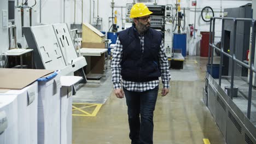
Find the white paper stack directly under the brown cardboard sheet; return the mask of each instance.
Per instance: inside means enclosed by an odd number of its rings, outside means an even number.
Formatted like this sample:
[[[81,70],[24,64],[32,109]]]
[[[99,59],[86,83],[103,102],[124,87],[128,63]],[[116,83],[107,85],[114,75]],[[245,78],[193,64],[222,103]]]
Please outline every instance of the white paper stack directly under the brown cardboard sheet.
[[[19,144],[37,143],[38,83],[34,82],[21,90],[10,90],[4,94],[18,95]]]

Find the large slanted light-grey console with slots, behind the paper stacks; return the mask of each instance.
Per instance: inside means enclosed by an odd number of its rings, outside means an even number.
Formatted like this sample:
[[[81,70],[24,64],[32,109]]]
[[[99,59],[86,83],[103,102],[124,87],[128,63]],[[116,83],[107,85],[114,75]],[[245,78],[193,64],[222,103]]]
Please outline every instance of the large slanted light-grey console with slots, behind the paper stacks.
[[[79,70],[86,82],[84,57],[78,57],[69,29],[65,23],[23,27],[28,45],[34,50],[37,69],[60,69],[62,75],[74,75]]]

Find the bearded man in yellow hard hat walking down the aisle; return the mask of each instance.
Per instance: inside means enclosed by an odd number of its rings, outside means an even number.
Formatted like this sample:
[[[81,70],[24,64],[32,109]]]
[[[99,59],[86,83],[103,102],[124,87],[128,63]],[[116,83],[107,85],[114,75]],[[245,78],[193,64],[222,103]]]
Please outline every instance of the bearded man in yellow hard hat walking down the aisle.
[[[150,28],[151,11],[143,3],[133,5],[132,27],[118,33],[112,59],[112,82],[117,98],[126,98],[131,143],[153,143],[153,113],[159,77],[169,92],[170,73],[162,34]],[[123,85],[123,87],[122,87]]]

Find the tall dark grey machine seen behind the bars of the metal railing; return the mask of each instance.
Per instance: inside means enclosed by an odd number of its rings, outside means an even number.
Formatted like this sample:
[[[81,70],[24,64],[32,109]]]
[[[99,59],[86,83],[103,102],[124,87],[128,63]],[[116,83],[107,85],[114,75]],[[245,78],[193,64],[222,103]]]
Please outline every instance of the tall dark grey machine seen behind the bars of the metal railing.
[[[252,7],[238,7],[238,8],[226,8],[224,9],[227,17],[235,17],[235,18],[251,18],[252,17]],[[241,22],[238,21],[237,25],[239,28],[237,31],[234,31],[232,27],[232,21],[226,21],[224,25],[224,52],[232,53],[234,51],[232,33],[236,33],[236,46],[240,47],[235,50],[236,58],[240,61],[246,60],[246,53],[249,49],[249,41],[250,41],[250,22]],[[223,57],[223,70],[222,75],[231,75],[231,60],[229,57]],[[234,66],[234,74],[235,76],[247,76],[248,69],[245,67],[241,67],[240,64],[235,64]]]

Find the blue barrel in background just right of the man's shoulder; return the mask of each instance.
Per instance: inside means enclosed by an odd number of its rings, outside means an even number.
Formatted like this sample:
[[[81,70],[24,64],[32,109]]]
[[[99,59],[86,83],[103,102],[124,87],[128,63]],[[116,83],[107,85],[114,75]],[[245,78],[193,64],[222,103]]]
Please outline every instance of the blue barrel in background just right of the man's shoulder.
[[[181,50],[182,56],[187,56],[187,34],[174,33],[173,34],[173,50]]]

